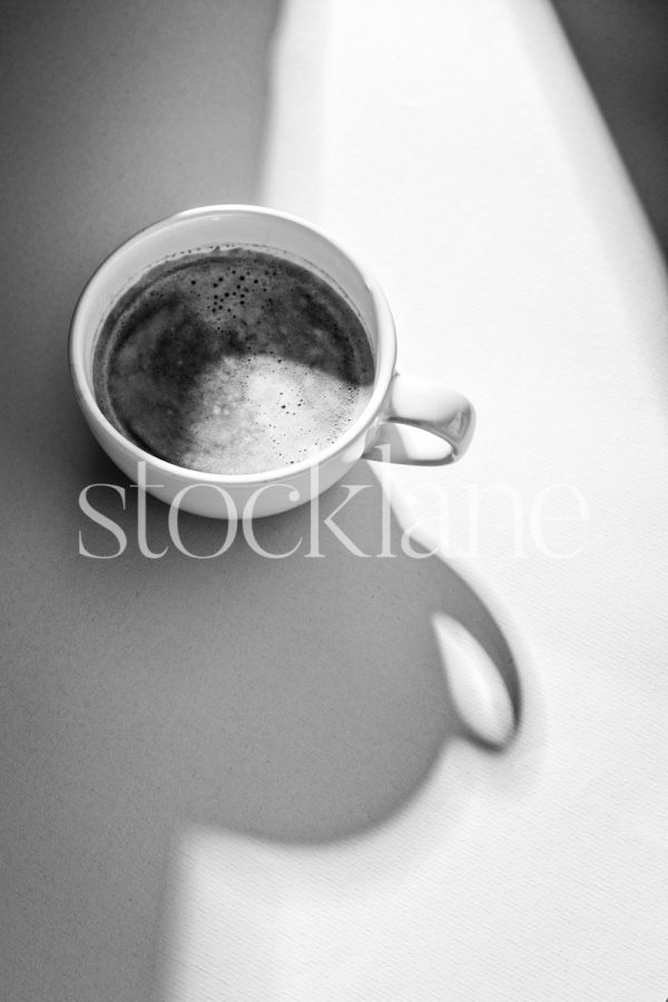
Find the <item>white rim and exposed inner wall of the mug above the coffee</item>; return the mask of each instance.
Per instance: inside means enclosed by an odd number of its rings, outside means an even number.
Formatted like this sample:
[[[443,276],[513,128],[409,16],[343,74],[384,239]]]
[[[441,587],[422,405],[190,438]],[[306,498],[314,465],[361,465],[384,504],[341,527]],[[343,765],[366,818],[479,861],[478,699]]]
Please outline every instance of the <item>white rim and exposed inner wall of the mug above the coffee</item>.
[[[264,474],[202,474],[175,466],[144,452],[121,435],[102,414],[94,392],[94,358],[105,318],[119,297],[155,265],[215,247],[249,246],[303,264],[324,278],[352,306],[369,337],[374,358],[374,386],[366,406],[344,434],[315,456],[289,466],[291,474],[311,466],[369,428],[383,405],[394,374],[394,325],[387,303],[375,281],[338,244],[311,224],[294,216],[248,206],[213,206],[190,209],[149,226],[122,244],[91,277],[77,305],[70,335],[70,363],[80,401],[94,422],[122,440],[138,459],[178,469],[194,479],[264,479]],[[272,478],[285,470],[266,471]]]

